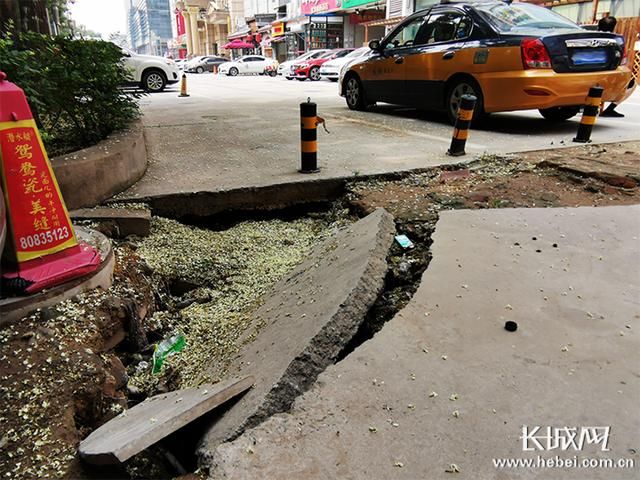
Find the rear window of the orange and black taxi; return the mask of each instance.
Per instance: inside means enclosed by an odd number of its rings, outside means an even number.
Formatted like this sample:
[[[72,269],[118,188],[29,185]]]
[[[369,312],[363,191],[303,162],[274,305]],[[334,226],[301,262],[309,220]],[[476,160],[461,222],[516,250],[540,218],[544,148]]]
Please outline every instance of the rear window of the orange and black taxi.
[[[520,33],[522,30],[539,29],[580,30],[572,21],[535,5],[491,3],[480,4],[476,8],[500,33]]]

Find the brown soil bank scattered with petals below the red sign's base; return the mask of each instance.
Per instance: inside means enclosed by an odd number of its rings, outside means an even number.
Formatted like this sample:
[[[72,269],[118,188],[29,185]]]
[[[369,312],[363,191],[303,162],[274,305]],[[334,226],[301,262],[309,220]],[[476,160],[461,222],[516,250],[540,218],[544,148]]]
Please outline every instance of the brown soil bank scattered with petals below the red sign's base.
[[[115,250],[115,286],[41,310],[0,331],[3,478],[77,478],[78,442],[127,408],[115,349],[155,308],[140,258]]]

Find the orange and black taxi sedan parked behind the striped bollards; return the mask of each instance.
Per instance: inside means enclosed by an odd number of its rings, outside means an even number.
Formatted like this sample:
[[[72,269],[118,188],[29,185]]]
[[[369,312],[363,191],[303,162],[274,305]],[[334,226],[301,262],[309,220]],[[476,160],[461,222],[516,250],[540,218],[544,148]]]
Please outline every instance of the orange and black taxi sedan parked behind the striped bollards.
[[[461,96],[472,94],[476,116],[538,109],[561,121],[594,85],[615,103],[635,88],[622,36],[583,30],[528,3],[438,4],[369,46],[374,52],[340,77],[351,109],[382,101],[444,110],[453,122]]]

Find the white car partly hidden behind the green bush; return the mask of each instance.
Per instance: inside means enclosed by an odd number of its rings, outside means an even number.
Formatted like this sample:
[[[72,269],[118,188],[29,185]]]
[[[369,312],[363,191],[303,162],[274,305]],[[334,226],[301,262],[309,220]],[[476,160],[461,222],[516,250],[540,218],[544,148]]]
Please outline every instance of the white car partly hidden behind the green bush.
[[[131,83],[148,92],[161,92],[167,85],[177,83],[179,72],[173,60],[152,55],[139,55],[120,47],[125,67],[132,76]]]

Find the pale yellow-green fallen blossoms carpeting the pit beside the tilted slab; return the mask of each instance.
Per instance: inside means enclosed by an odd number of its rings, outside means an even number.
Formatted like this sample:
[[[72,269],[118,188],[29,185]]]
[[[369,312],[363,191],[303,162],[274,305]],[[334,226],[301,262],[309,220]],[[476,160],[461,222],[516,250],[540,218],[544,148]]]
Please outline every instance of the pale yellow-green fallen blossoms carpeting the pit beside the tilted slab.
[[[151,392],[163,381],[172,388],[218,381],[241,346],[260,297],[335,226],[306,218],[244,222],[215,232],[155,218],[137,253],[156,273],[202,287],[183,296],[196,302],[152,319],[166,336],[184,334],[185,349],[167,359],[159,376],[139,369],[129,385]]]

